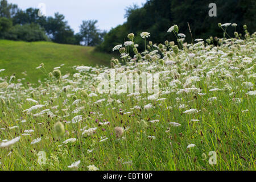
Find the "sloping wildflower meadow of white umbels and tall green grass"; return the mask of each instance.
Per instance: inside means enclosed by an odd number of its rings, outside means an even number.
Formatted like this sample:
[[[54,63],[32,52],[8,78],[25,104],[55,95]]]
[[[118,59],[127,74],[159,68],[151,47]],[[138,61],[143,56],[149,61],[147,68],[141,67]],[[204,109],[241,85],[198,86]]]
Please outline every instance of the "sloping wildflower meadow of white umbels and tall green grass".
[[[148,42],[150,33],[142,32],[141,53],[129,34],[130,41],[113,48],[119,59],[98,55],[111,68],[81,65],[77,55],[64,62],[63,50],[63,57],[46,62],[43,56],[52,55],[39,55],[37,48],[31,53],[42,64],[28,65],[29,55],[18,54],[8,67],[1,61],[0,169],[255,170],[256,32],[244,26],[245,36],[234,32],[231,38],[225,30],[236,24],[219,26],[224,38],[195,44],[186,43],[176,25],[168,30],[176,45]],[[33,78],[21,75],[20,65],[46,80],[23,84],[23,77]],[[63,71],[68,65],[69,73]],[[99,93],[102,76],[113,70],[159,73],[159,97]]]

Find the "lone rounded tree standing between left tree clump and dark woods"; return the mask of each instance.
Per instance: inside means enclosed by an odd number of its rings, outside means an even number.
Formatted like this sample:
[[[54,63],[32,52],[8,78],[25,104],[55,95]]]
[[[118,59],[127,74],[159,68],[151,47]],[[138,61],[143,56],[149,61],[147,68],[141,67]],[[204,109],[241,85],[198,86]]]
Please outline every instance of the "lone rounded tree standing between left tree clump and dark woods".
[[[80,26],[80,38],[84,46],[96,46],[103,41],[106,31],[96,27],[97,20],[84,20]]]

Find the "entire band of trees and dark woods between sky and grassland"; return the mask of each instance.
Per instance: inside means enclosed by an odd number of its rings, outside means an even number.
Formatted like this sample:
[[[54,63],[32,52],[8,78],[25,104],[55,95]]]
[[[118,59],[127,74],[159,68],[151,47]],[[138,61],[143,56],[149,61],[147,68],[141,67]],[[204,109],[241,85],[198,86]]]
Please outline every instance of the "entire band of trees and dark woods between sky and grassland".
[[[217,16],[210,17],[209,3],[216,3]],[[0,1],[0,39],[23,40],[26,42],[52,41],[60,44],[76,44],[97,46],[98,51],[112,52],[112,48],[127,40],[127,34],[133,32],[135,42],[143,48],[142,31],[151,33],[149,40],[163,43],[175,40],[167,30],[173,24],[179,26],[180,32],[187,35],[186,41],[191,42],[189,26],[193,39],[207,39],[209,36],[221,37],[223,31],[218,23],[237,23],[237,31],[247,25],[249,32],[255,28],[255,1],[251,0],[148,0],[142,7],[127,7],[127,21],[109,32],[98,30],[97,20],[84,20],[80,32],[75,34],[65,21],[65,16],[56,13],[54,17],[39,17],[38,9],[20,10],[18,6]],[[234,30],[229,28],[228,33]]]

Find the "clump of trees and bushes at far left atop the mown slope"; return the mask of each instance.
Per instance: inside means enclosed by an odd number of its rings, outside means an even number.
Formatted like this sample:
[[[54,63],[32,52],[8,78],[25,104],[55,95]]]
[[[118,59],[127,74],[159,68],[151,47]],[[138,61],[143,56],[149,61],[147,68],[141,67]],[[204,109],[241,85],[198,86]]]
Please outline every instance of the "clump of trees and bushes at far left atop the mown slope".
[[[65,21],[64,15],[56,13],[54,17],[40,17],[38,9],[19,10],[18,6],[9,4],[6,0],[1,0],[0,5],[0,18],[6,17],[8,22],[14,25],[14,27],[4,28],[3,25],[7,26],[7,20],[0,21],[3,27],[0,32],[1,39],[27,42],[52,40],[61,44],[80,44],[80,36],[74,34],[68,22]]]

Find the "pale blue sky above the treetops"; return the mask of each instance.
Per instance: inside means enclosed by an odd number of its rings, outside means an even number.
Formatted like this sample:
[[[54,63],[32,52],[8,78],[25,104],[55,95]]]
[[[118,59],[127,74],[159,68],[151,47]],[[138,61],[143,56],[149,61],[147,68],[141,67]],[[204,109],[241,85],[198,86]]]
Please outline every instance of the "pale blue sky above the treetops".
[[[140,7],[147,0],[7,0],[22,10],[29,7],[38,8],[40,3],[46,5],[46,16],[59,12],[65,16],[69,26],[77,33],[82,20],[96,19],[100,30],[109,31],[126,21],[127,6],[137,4]]]

